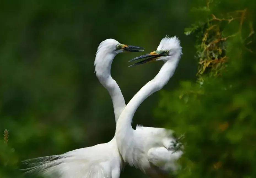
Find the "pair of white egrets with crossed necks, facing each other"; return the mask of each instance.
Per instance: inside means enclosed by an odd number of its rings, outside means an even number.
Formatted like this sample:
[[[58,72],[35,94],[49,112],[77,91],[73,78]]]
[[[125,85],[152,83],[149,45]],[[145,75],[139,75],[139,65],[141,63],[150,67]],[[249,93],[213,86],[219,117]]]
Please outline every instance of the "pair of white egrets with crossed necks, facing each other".
[[[163,61],[159,73],[143,86],[125,106],[122,92],[111,77],[111,64],[118,53],[124,51],[139,52],[143,48],[123,45],[114,39],[100,43],[95,57],[95,73],[100,83],[109,92],[115,113],[116,131],[108,143],[81,148],[62,155],[36,158],[28,172],[40,172],[47,176],[62,178],[118,178],[128,163],[141,169],[150,177],[166,177],[177,166],[175,161],[182,151],[174,151],[175,139],[172,131],[165,128],[137,126],[134,130],[131,122],[136,109],[152,93],[160,90],[173,76],[182,54],[179,39],[166,36],[156,51],[136,57],[131,61],[149,57],[133,65],[150,61]],[[32,159],[32,161],[35,161]]]

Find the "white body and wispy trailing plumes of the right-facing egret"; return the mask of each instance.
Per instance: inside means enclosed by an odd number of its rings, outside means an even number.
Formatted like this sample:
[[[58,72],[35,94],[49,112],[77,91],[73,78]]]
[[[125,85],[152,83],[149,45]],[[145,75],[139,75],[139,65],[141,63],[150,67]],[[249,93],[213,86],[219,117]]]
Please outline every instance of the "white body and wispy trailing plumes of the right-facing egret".
[[[32,166],[26,173],[42,174],[47,177],[61,178],[111,178],[109,157],[115,157],[111,142],[73,150],[62,155],[53,155],[26,160]],[[105,149],[103,149],[105,148]]]

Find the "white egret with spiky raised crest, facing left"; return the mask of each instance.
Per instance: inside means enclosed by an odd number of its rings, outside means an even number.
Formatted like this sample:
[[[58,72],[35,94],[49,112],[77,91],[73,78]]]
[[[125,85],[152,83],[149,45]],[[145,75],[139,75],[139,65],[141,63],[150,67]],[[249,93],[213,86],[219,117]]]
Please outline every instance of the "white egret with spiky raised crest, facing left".
[[[139,105],[152,93],[162,89],[173,76],[181,54],[182,47],[179,39],[176,36],[166,36],[161,40],[157,51],[131,60],[150,57],[134,65],[150,61],[164,61],[155,78],[145,84],[126,105],[117,121],[115,132],[123,160],[151,177],[165,177],[169,170],[176,169],[175,160],[180,158],[182,151],[173,150],[173,143],[176,140],[171,130],[143,126],[137,126],[134,130],[131,123]]]

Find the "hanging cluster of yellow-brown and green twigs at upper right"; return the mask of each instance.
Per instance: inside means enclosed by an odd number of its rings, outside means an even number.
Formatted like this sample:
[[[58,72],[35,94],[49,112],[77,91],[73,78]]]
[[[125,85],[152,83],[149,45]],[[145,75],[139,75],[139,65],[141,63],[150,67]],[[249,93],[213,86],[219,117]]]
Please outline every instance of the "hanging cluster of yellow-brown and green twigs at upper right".
[[[209,4],[205,9],[210,11]],[[194,9],[194,11],[202,11],[202,9]],[[207,76],[218,76],[221,71],[225,68],[228,56],[226,55],[226,41],[229,38],[239,36],[242,43],[245,43],[254,34],[252,23],[250,22],[250,32],[247,36],[242,36],[242,29],[244,27],[244,20],[247,9],[236,10],[234,12],[228,12],[223,18],[217,18],[214,14],[207,19],[206,22],[198,21],[191,25],[190,28],[185,28],[185,34],[196,35],[196,55],[195,59],[198,61],[198,80],[203,81],[203,75]],[[223,15],[222,15],[223,16]],[[233,24],[232,24],[233,23]],[[234,25],[238,24],[239,25]],[[232,31],[225,31],[229,28],[228,26],[234,27]],[[244,45],[252,43],[251,39]],[[248,51],[253,51],[247,48]]]

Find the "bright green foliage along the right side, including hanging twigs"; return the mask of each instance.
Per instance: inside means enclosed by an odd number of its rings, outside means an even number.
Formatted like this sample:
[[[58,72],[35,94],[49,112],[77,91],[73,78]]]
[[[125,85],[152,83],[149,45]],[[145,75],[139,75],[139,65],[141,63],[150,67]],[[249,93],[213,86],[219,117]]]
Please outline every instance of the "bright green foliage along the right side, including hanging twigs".
[[[193,12],[204,23],[185,29],[198,80],[162,91],[155,116],[185,135],[177,177],[256,177],[255,2],[208,5]]]

